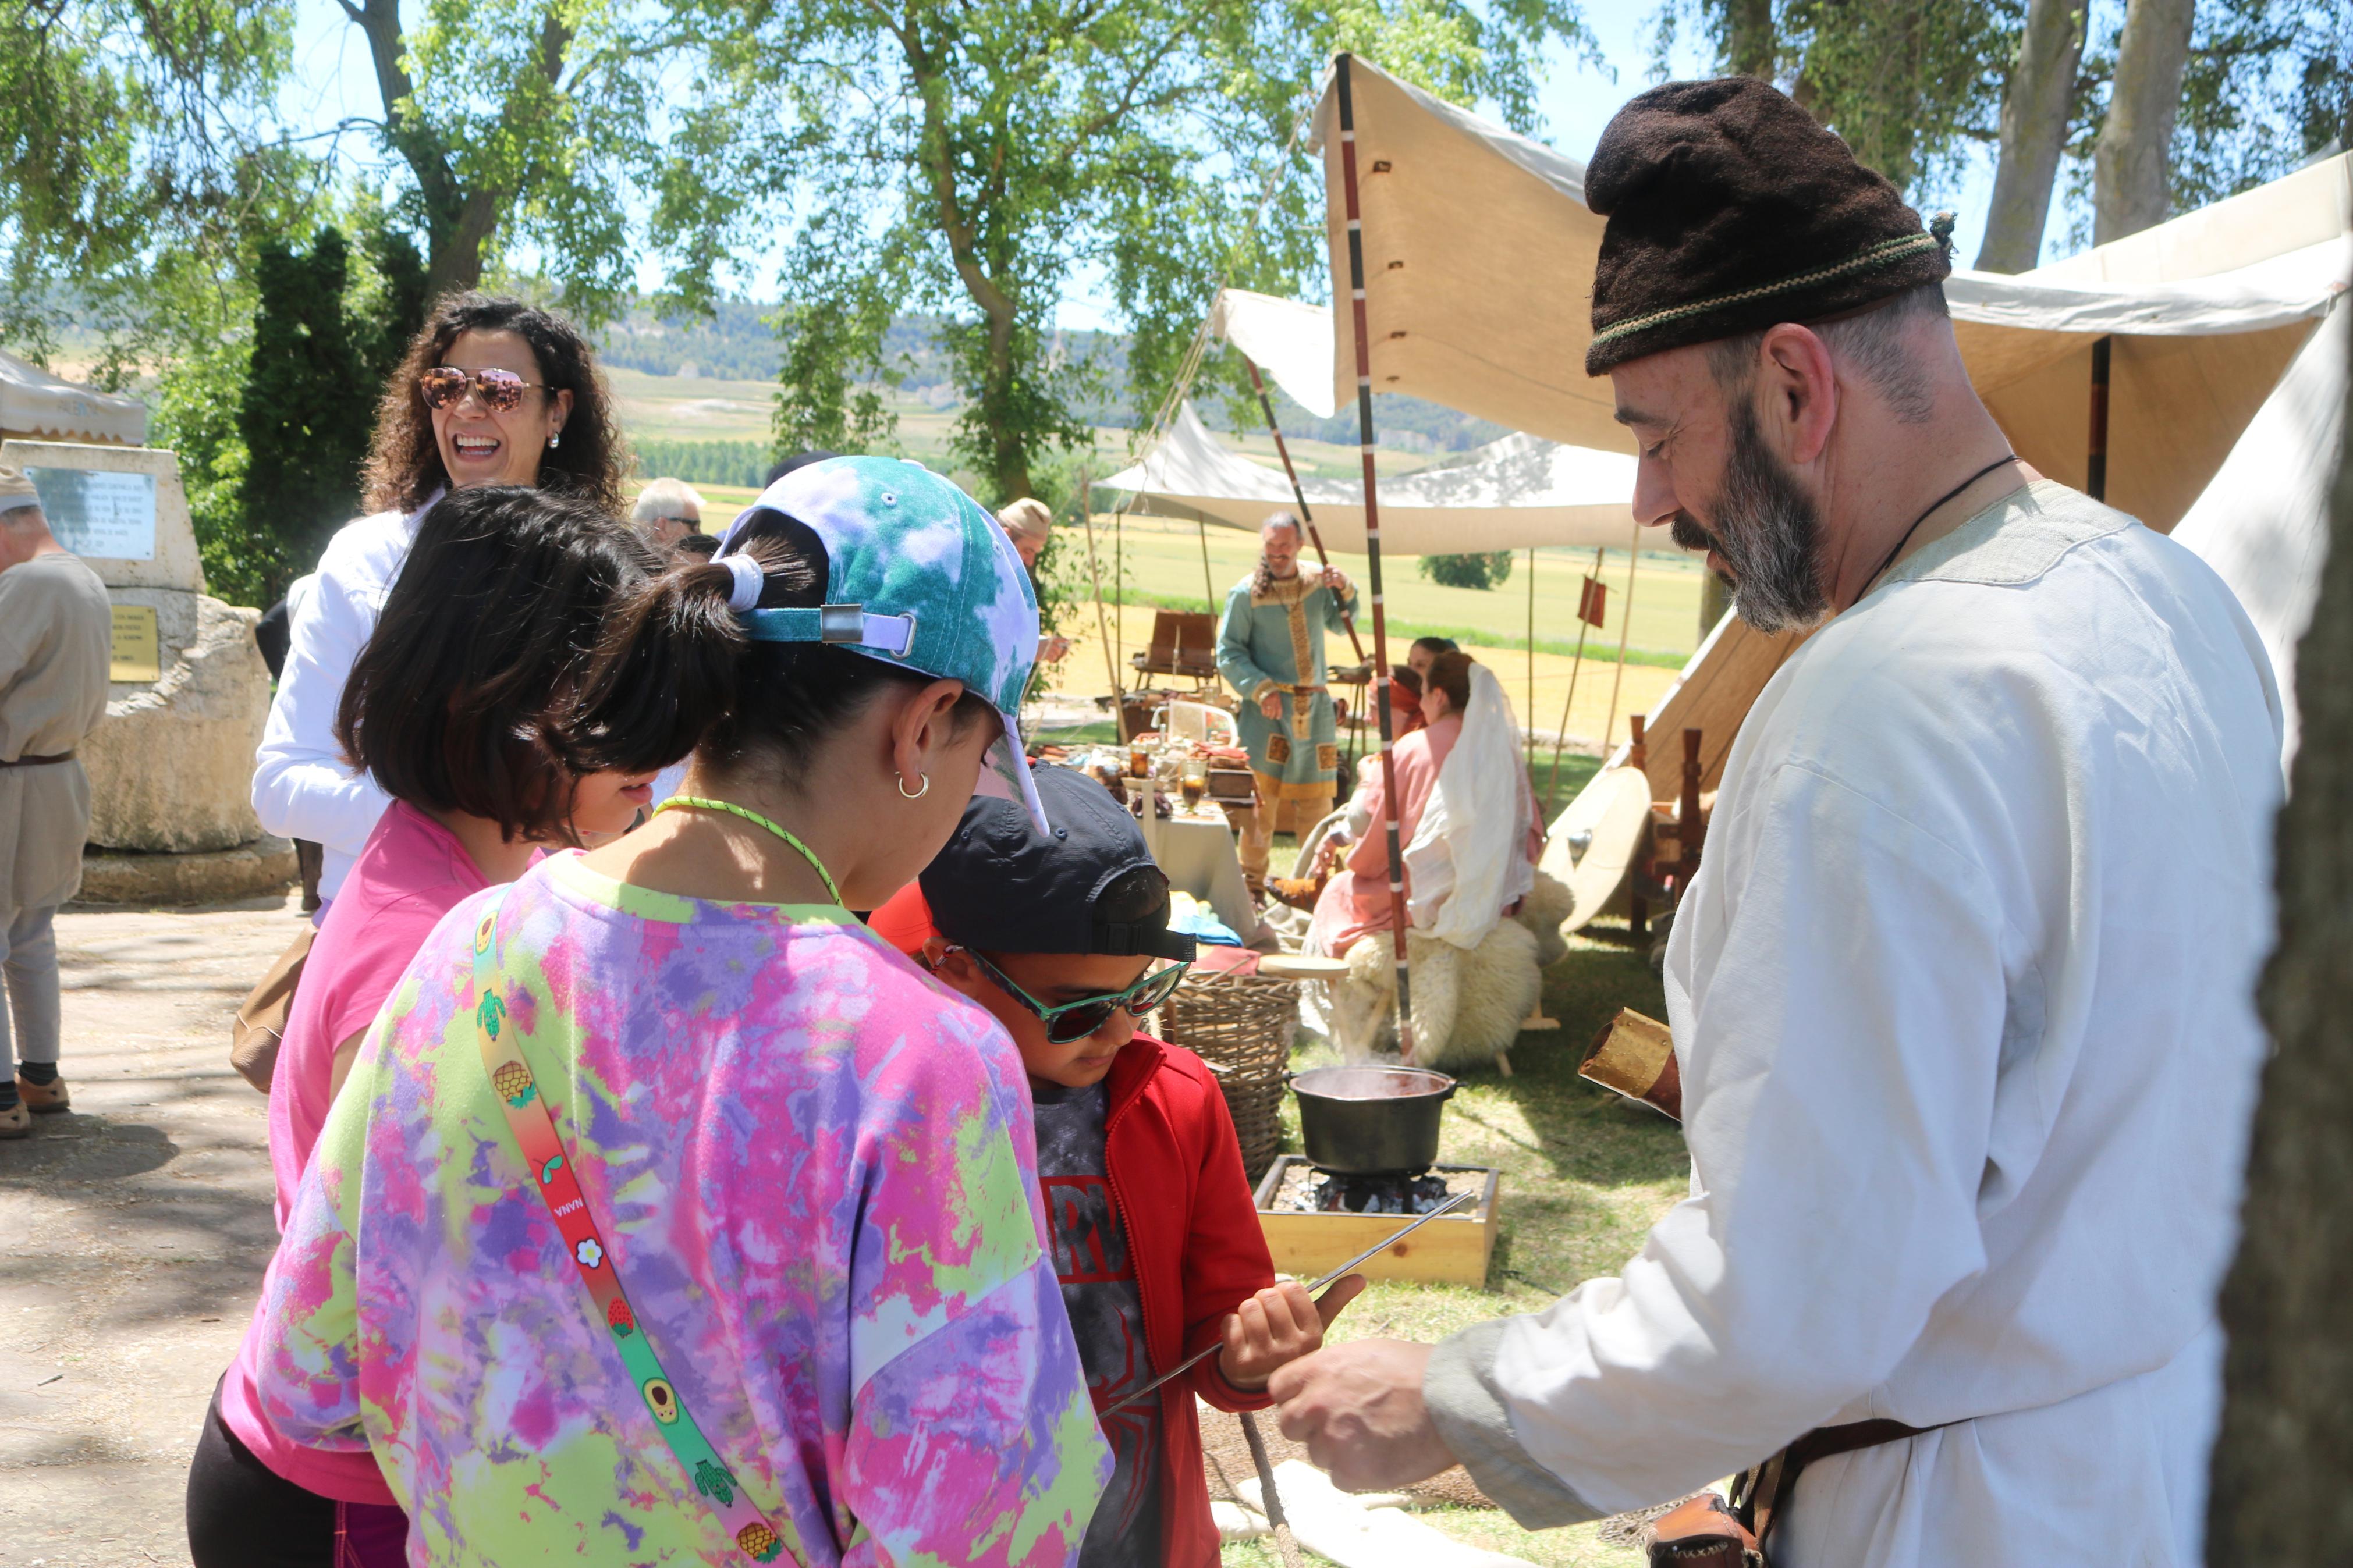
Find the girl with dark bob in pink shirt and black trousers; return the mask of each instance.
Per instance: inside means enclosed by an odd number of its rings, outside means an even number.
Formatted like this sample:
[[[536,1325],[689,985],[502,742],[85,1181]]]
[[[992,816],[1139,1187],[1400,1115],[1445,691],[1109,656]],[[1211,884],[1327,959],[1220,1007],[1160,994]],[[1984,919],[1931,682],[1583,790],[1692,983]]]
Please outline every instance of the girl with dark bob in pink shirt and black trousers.
[[[539,724],[654,571],[628,527],[548,491],[459,489],[424,517],[336,712],[336,741],[393,806],[327,910],[271,1077],[280,1227],[360,1039],[440,917],[541,844],[612,839],[647,806],[652,773],[574,776]],[[402,1561],[407,1521],[376,1460],[280,1436],[254,1345],[247,1331],[188,1469],[198,1568]]]

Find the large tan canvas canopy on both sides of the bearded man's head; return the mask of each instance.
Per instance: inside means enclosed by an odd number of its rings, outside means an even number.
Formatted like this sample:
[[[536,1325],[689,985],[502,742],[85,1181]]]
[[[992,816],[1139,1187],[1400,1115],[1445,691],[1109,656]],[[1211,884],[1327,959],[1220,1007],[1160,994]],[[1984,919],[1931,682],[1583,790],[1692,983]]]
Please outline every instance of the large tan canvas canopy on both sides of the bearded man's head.
[[[1584,165],[1362,59],[1353,94],[1372,388],[1631,451],[1609,381],[1584,371],[1602,237]],[[1315,139],[1332,275],[1346,277],[1337,115],[1327,87]],[[2209,219],[2195,235],[2134,235],[2118,256],[1958,273],[1946,294],[1962,355],[2019,456],[2082,484],[2092,341],[2115,336],[2108,501],[2172,529],[2344,282],[2311,247],[2346,230],[2348,169],[2353,158],[2327,160],[2193,214]],[[1353,395],[1353,343],[1334,343],[1329,381],[1327,402]]]

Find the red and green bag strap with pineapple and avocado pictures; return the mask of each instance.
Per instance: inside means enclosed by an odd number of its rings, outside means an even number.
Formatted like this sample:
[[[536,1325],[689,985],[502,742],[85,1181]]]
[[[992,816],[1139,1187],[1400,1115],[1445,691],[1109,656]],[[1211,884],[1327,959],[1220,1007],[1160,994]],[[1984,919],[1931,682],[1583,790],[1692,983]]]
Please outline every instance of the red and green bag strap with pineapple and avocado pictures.
[[[520,1034],[506,1039],[506,1044],[499,1041],[506,1032],[506,1001],[494,985],[496,954],[492,947],[496,940],[499,905],[504,903],[506,891],[501,889],[482,912],[482,922],[473,929],[473,1032],[482,1046],[482,1067],[489,1072],[492,1091],[506,1110],[506,1126],[515,1133],[522,1161],[536,1178],[532,1190],[539,1192],[539,1199],[548,1206],[548,1218],[562,1232],[565,1251],[572,1253],[581,1286],[588,1291],[588,1302],[595,1307],[598,1321],[612,1331],[612,1345],[621,1354],[628,1380],[645,1399],[645,1410],[654,1418],[654,1429],[661,1432],[671,1453],[678,1455],[678,1465],[694,1481],[694,1490],[720,1516],[727,1537],[755,1563],[774,1563],[784,1554],[798,1568],[800,1542],[795,1540],[788,1547],[784,1533],[751,1505],[744,1486],[720,1462],[711,1439],[704,1436],[704,1429],[678,1396],[678,1387],[661,1371],[654,1347],[645,1342],[638,1314],[631,1312],[628,1295],[621,1293],[621,1281],[612,1269],[612,1248],[598,1234],[595,1215],[588,1211],[588,1199],[581,1194],[572,1161],[565,1157],[562,1138],[555,1133],[555,1112],[548,1110],[548,1100],[539,1093],[539,1081],[532,1077],[529,1063],[522,1060]]]

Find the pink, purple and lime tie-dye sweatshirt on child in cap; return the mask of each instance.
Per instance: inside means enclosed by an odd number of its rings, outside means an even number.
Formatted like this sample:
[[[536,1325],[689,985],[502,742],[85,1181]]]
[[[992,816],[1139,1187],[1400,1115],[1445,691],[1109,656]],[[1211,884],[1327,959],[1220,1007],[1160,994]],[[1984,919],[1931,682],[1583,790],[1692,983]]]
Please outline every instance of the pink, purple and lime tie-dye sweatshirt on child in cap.
[[[372,1446],[412,1563],[736,1563],[525,1182],[468,898],[367,1037],[266,1284],[259,1392]],[[1028,1095],[981,1009],[828,907],[555,856],[499,914],[522,1032],[671,1382],[812,1568],[1066,1563],[1111,1469]]]

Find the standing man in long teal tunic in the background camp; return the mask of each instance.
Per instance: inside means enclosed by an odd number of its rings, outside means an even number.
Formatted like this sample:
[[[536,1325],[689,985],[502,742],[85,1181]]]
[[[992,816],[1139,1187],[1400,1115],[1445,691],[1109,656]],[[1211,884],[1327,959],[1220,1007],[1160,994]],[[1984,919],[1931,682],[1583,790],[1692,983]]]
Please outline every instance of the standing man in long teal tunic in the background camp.
[[[1266,839],[1292,802],[1304,832],[1332,811],[1339,780],[1339,726],[1325,689],[1325,630],[1348,625],[1355,588],[1339,569],[1299,571],[1299,520],[1275,512],[1259,527],[1259,569],[1226,595],[1217,625],[1217,672],[1242,698],[1257,811],[1242,832],[1242,872],[1266,877]]]

